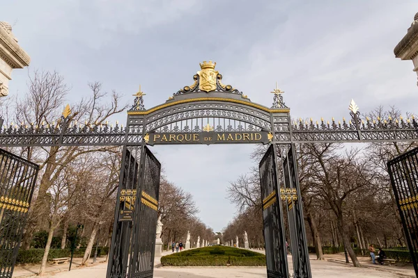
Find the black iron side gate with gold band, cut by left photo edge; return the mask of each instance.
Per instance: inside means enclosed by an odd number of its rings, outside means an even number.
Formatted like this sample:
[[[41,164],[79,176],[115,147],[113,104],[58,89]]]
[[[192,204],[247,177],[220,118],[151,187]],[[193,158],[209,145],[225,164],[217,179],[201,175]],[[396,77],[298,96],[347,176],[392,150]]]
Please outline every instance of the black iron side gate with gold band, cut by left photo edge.
[[[13,275],[38,170],[38,165],[0,149],[1,278]]]

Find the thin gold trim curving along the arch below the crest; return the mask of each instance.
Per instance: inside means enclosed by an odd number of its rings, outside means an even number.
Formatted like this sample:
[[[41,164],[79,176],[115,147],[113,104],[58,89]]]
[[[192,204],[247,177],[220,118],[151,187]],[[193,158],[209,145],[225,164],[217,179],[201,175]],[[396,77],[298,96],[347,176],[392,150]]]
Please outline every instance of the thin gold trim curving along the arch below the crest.
[[[187,104],[188,102],[193,102],[193,101],[226,101],[226,102],[233,102],[235,104],[245,104],[247,106],[251,106],[254,108],[258,108],[261,109],[263,111],[266,111],[268,113],[286,113],[291,111],[290,109],[270,109],[258,104],[253,104],[252,102],[247,102],[247,101],[242,101],[242,100],[238,100],[238,99],[226,99],[224,97],[199,97],[196,99],[183,99],[183,100],[178,100],[178,101],[173,101],[169,104],[162,104],[160,106],[156,106],[154,108],[151,108],[149,110],[146,111],[127,111],[127,115],[148,115],[150,113],[153,113],[155,111],[158,111],[162,108],[166,108],[169,106],[174,106],[176,104]]]

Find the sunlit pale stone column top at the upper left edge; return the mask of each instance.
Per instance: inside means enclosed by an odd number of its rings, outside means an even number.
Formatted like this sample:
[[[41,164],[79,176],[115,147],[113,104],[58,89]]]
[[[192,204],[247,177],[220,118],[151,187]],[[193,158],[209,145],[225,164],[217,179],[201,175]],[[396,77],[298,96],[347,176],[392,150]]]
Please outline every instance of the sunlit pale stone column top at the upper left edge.
[[[12,80],[12,70],[27,67],[31,58],[17,44],[12,26],[0,22],[0,97],[8,95],[8,82]]]

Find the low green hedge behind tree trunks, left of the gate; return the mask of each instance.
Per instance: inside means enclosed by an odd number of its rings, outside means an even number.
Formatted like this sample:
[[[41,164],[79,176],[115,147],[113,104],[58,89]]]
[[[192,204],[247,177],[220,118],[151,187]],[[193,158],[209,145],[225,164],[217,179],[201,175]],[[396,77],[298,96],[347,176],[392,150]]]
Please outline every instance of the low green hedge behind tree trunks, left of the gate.
[[[74,250],[74,257],[80,258],[84,256],[86,248]],[[45,250],[41,248],[33,248],[29,250],[19,250],[17,254],[16,263],[40,263]],[[91,256],[94,256],[95,246],[91,251]],[[98,256],[105,256],[109,252],[109,247],[98,247]],[[0,254],[1,256],[1,254]],[[71,250],[68,249],[50,249],[48,254],[48,261],[57,258],[65,258],[71,256]]]

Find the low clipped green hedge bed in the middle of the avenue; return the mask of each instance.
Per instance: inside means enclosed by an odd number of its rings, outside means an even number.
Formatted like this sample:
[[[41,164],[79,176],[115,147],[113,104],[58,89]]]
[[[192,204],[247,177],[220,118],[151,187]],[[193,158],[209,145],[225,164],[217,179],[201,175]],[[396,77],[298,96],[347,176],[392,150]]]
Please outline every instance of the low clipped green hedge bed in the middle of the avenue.
[[[163,266],[265,265],[265,255],[249,250],[211,246],[162,256]]]

